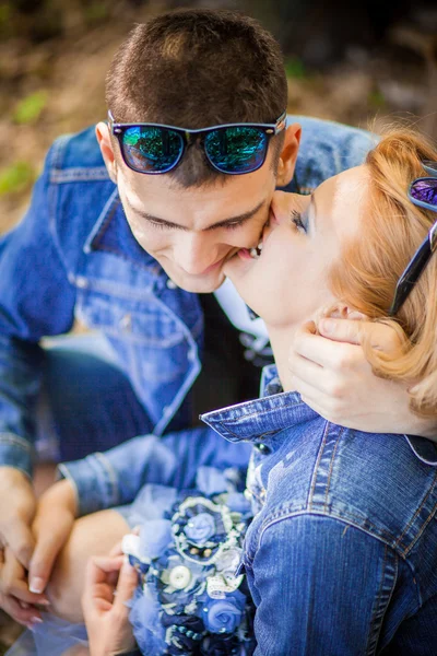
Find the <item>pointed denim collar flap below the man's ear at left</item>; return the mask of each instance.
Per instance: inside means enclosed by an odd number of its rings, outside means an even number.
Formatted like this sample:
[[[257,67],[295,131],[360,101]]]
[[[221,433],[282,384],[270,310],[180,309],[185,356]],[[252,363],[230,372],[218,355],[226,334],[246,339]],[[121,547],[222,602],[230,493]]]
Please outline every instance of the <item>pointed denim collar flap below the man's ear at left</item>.
[[[109,196],[84,246],[85,253],[104,250],[130,260],[158,276],[163,269],[137,242],[126,219],[117,187]]]

